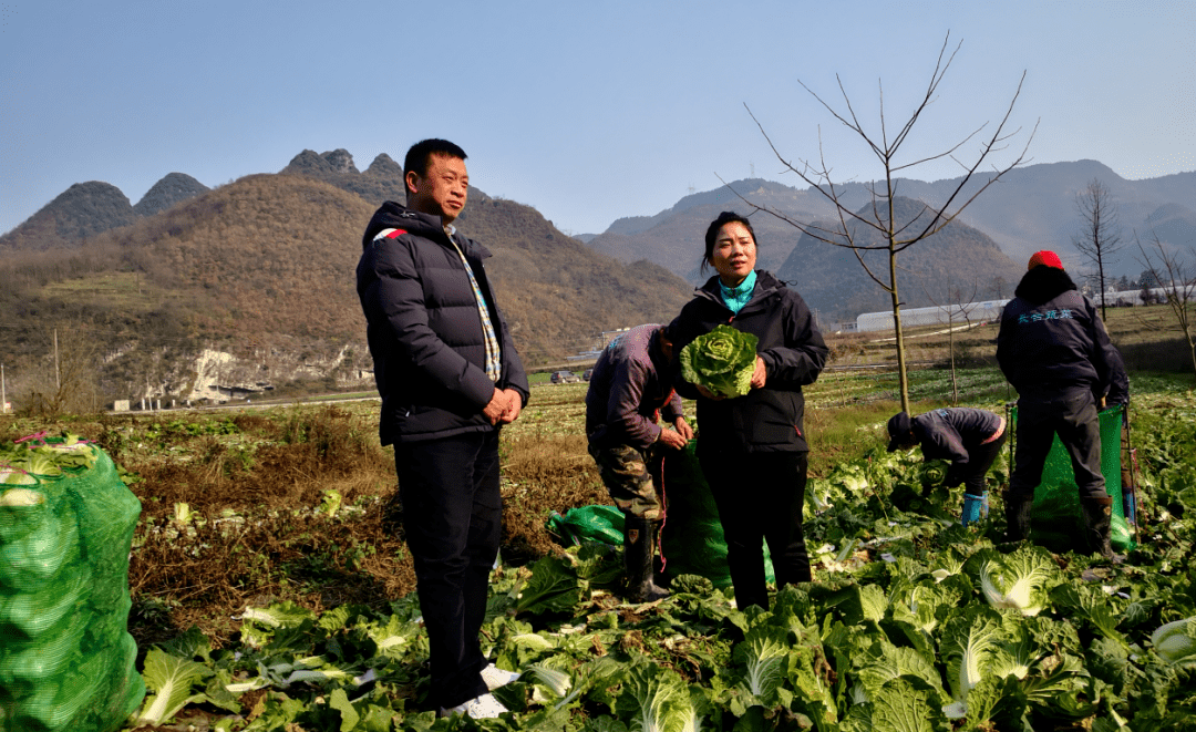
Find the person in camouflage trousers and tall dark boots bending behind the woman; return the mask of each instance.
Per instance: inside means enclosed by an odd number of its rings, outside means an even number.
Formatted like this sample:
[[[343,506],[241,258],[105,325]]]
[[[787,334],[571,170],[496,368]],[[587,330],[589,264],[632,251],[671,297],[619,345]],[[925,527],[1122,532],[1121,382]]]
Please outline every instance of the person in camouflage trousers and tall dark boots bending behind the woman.
[[[610,498],[623,512],[629,599],[669,596],[653,581],[653,545],[664,519],[660,465],[665,451],[694,437],[672,390],[672,341],[663,325],[639,325],[598,356],[586,392],[586,437]],[[657,423],[663,414],[676,429]]]

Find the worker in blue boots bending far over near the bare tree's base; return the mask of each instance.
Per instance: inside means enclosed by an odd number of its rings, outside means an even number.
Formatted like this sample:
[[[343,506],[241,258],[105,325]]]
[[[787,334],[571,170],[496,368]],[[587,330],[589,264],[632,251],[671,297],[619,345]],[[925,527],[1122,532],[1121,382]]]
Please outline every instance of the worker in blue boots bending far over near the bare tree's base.
[[[904,411],[889,420],[889,452],[922,446],[927,460],[950,460],[942,483],[964,484],[960,523],[974,524],[988,516],[984,478],[1005,445],[1005,417],[987,409],[935,409],[910,419]]]

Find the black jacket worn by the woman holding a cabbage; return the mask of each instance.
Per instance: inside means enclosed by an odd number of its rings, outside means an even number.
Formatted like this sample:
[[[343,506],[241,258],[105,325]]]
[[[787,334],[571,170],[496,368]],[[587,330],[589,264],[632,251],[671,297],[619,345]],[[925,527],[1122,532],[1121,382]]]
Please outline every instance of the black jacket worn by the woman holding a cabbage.
[[[751,333],[768,377],[763,389],[733,399],[707,399],[681,379],[677,354],[690,341],[727,324]],[[719,277],[710,277],[672,324],[677,391],[697,399],[698,446],[733,452],[806,452],[801,386],[813,384],[826,362],[826,344],[797,292],[757,270],[756,289],[734,313],[722,301]]]

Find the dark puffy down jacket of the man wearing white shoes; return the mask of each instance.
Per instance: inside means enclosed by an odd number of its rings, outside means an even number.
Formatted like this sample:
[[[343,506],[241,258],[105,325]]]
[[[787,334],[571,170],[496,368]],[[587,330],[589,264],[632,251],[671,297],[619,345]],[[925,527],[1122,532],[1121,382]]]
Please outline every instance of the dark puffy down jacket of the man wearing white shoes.
[[[378,237],[388,228],[397,233]],[[477,300],[440,218],[388,201],[366,227],[358,263],[358,297],[382,395],[383,445],[494,429],[482,409],[495,386],[514,389],[527,401],[527,376],[482,264],[490,252],[460,234],[454,240],[489,306],[501,377],[495,384],[486,376]]]

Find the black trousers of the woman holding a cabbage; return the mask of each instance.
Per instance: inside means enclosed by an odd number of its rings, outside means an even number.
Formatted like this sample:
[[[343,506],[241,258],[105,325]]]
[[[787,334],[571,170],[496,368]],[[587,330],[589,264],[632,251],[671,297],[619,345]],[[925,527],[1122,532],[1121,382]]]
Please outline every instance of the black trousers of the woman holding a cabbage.
[[[698,443],[697,459],[719,507],[727,569],[740,610],[748,605],[768,609],[765,541],[777,588],[811,579],[801,529],[806,458],[805,452],[703,450]]]

